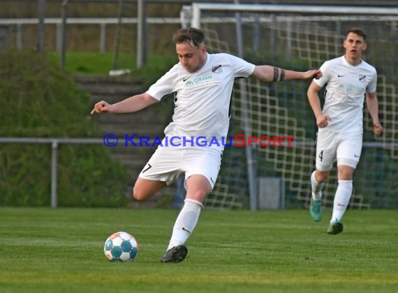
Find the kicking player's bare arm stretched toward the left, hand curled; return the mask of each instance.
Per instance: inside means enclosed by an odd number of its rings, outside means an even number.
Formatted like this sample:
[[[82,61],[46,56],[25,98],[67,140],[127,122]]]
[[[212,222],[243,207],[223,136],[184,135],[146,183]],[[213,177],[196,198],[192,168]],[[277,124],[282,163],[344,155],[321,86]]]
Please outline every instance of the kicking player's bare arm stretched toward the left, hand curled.
[[[112,105],[105,102],[105,100],[101,100],[101,102],[98,102],[96,103],[96,105],[94,105],[94,109],[91,110],[91,115],[95,113],[136,112],[158,102],[159,100],[156,100],[156,98],[149,96],[148,93],[140,93],[139,95],[126,98],[126,100],[122,100],[119,103],[115,103]]]

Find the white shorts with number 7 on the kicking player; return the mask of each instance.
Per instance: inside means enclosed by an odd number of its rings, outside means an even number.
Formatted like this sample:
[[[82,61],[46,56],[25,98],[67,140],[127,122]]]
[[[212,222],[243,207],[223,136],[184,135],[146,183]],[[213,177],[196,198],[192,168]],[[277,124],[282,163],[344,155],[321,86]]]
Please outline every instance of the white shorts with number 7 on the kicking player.
[[[159,146],[139,176],[170,185],[182,173],[185,173],[184,182],[189,176],[200,174],[207,178],[213,189],[220,171],[221,155],[222,150],[213,147]]]

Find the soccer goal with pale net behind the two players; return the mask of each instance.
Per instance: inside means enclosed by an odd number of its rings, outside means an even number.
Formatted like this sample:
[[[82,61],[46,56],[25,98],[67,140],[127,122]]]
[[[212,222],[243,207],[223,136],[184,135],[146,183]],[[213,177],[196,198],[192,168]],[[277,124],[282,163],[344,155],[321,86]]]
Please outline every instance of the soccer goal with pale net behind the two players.
[[[398,207],[398,13],[374,9],[363,13],[306,13],[244,11],[244,5],[201,10],[196,27],[205,31],[209,52],[229,52],[255,64],[305,71],[319,68],[327,59],[344,54],[346,31],[360,27],[367,32],[364,59],[378,70],[379,118],[383,135],[375,137],[371,117],[364,106],[364,143],[354,174],[351,208]],[[228,6],[228,7],[227,7]],[[259,5],[260,6],[260,5]],[[265,6],[261,6],[265,7]],[[296,6],[293,6],[296,7]],[[239,8],[234,10],[233,8]],[[257,12],[258,11],[258,12]],[[239,13],[238,13],[239,12]],[[362,13],[361,13],[362,12]],[[184,6],[182,23],[193,25],[193,10]],[[309,177],[315,167],[316,123],[307,100],[311,81],[274,84],[248,79],[236,82],[230,135],[295,137],[290,147],[226,147],[221,172],[207,209],[253,209],[261,195],[258,180],[277,177],[284,184],[287,207],[307,207],[311,195]],[[321,97],[321,100],[323,98]],[[332,206],[337,188],[334,166],[323,189],[326,207]],[[272,191],[272,190],[271,190]],[[275,195],[277,196],[277,194]],[[256,207],[256,204],[254,204]]]

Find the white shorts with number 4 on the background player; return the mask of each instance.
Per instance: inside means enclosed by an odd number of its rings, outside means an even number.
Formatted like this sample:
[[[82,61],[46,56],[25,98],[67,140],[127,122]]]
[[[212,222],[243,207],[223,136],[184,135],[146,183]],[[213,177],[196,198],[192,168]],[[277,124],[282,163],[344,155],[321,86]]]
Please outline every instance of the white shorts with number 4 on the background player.
[[[362,151],[362,133],[334,133],[319,128],[316,139],[316,169],[330,171],[337,166],[357,167]]]

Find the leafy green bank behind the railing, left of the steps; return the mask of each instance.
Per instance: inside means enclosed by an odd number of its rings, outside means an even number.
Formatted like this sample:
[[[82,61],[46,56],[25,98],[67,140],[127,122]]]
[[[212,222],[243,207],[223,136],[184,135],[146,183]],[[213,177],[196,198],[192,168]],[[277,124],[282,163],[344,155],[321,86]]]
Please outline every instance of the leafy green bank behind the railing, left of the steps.
[[[0,137],[100,137],[71,77],[35,52],[0,55]],[[59,206],[126,206],[128,170],[102,145],[59,146]],[[0,204],[50,204],[50,144],[0,144]]]

